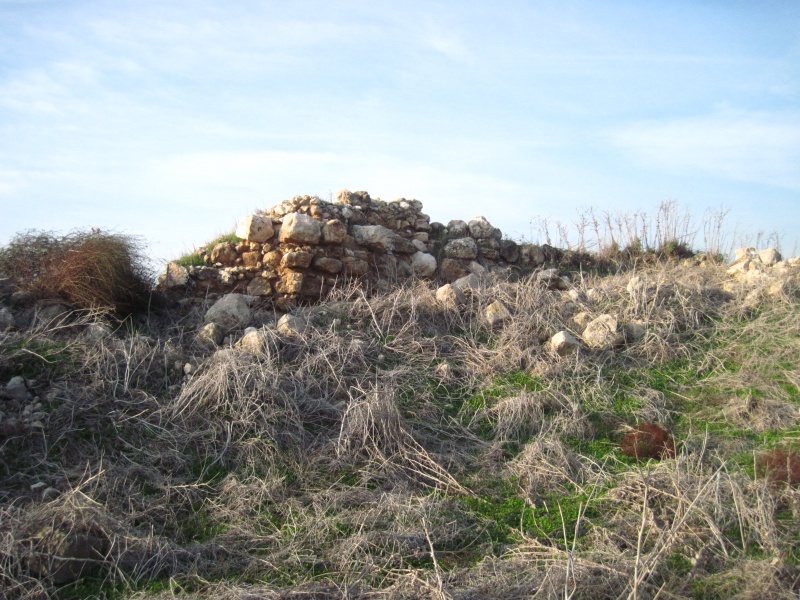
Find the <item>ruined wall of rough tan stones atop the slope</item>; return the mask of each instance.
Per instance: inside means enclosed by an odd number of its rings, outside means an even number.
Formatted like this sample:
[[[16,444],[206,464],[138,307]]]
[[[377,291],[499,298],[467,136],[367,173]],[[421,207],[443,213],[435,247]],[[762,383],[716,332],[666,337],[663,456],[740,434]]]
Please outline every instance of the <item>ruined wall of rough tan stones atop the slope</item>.
[[[240,221],[238,243],[205,249],[205,266],[171,263],[165,288],[193,295],[244,293],[286,305],[324,297],[357,280],[381,290],[409,277],[455,281],[497,268],[531,271],[548,250],[503,239],[483,217],[431,223],[417,200],[383,202],[339,192],[336,202],[296,196]]]

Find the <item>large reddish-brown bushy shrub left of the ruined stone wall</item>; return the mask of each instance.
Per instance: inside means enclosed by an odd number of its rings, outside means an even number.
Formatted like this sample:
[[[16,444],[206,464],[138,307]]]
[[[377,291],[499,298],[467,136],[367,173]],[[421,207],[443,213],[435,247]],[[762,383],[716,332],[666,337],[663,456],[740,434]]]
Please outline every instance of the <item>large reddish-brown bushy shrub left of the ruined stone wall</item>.
[[[150,302],[152,274],[145,264],[138,238],[94,230],[63,237],[26,232],[0,249],[0,272],[17,289],[120,316],[143,311]]]

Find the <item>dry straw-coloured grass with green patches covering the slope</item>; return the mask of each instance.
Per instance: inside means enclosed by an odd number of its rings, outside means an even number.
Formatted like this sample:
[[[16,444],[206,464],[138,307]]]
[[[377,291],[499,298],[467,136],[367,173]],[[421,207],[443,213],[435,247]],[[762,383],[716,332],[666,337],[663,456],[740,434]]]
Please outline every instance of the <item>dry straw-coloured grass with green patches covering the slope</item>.
[[[0,424],[2,594],[796,598],[797,290],[744,309],[721,267],[637,275],[496,276],[459,310],[342,288],[258,354],[197,345],[200,301],[0,333],[46,413]],[[580,311],[644,334],[554,356]],[[663,460],[620,448],[646,423]]]

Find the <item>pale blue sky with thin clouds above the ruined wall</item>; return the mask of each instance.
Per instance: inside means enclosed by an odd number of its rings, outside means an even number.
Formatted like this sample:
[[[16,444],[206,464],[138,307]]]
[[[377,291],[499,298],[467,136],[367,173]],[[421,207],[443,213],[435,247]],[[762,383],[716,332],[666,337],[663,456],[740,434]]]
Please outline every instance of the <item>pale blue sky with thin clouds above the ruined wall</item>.
[[[0,245],[166,261],[340,189],[534,242],[674,201],[797,254],[800,2],[0,0]]]

